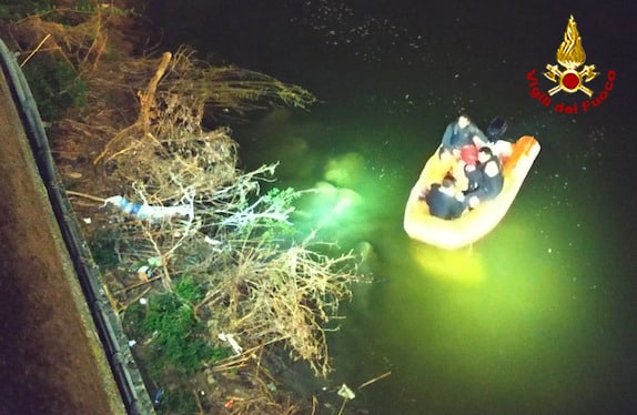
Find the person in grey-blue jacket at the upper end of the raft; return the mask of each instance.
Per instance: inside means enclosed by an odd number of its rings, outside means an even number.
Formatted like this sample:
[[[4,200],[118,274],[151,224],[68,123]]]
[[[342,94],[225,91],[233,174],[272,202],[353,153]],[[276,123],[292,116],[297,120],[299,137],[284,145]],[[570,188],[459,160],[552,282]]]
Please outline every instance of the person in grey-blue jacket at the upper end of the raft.
[[[456,160],[466,163],[475,162],[477,149],[486,145],[488,138],[471,122],[467,115],[458,117],[457,121],[451,122],[441,142],[438,156],[454,155]],[[465,160],[466,159],[466,160]]]

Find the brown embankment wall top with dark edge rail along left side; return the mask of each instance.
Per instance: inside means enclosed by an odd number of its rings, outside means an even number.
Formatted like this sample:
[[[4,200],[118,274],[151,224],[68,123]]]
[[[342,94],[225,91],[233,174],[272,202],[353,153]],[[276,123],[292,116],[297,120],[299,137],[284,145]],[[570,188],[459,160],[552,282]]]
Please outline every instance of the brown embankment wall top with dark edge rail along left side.
[[[2,41],[0,58],[0,415],[152,414]]]

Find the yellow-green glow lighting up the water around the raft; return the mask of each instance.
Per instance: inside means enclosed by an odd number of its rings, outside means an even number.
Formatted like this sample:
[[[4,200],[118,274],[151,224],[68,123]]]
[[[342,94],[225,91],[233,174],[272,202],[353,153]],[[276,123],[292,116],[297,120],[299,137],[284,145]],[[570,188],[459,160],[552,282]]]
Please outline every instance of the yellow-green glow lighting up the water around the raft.
[[[267,143],[256,159],[285,159],[295,136],[304,150],[283,161],[291,172],[283,182],[299,189],[321,183],[332,194],[302,205],[307,227],[323,221],[322,237],[345,247],[367,241],[374,249],[375,282],[356,287],[342,330],[331,336],[332,382],[356,386],[392,374],[355,391],[360,401],[352,407],[373,414],[577,413],[604,395],[600,379],[614,357],[599,311],[613,297],[604,291],[599,226],[590,221],[606,208],[587,205],[582,192],[590,178],[570,174],[568,165],[553,170],[540,162],[550,155],[540,153],[501,225],[473,247],[447,252],[411,241],[402,230],[419,160],[437,139],[422,142],[416,128],[403,126],[405,145],[387,151],[386,140],[396,138],[358,124],[340,125],[331,138],[321,123],[292,131],[290,120],[263,126],[247,133]],[[352,183],[341,184],[351,184],[356,198],[336,214],[341,188],[325,183],[324,168],[352,152],[360,156],[341,166],[353,169]],[[574,156],[574,164],[582,162]],[[294,178],[295,169],[304,175]],[[588,212],[593,206],[596,212]]]

